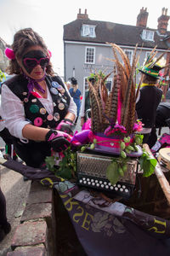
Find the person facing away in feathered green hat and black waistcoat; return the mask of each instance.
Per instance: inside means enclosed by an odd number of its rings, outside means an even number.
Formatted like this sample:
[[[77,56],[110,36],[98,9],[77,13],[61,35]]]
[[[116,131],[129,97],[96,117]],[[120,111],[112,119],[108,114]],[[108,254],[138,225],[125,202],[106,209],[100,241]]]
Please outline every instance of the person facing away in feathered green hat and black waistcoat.
[[[163,68],[159,64],[162,55],[158,59],[153,59],[154,54],[153,50],[144,66],[139,69],[143,75],[143,83],[136,101],[136,112],[138,119],[144,124],[142,131],[144,135],[143,143],[148,143],[150,132],[156,122],[156,108],[162,97],[162,90],[156,87],[157,80],[160,79],[159,72]]]

